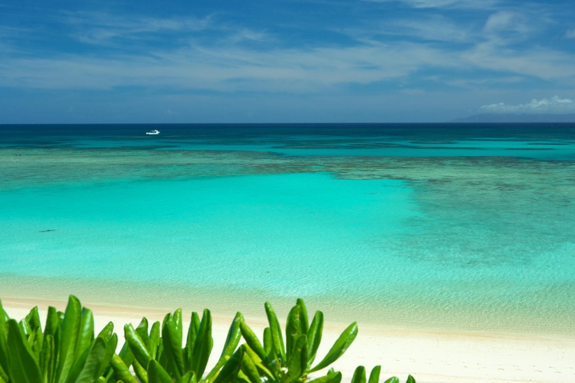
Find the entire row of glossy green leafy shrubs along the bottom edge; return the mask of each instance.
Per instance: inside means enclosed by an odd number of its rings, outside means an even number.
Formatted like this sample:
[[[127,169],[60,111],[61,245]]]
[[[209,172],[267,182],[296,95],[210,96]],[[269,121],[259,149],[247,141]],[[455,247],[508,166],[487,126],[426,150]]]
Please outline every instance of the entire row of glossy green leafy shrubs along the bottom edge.
[[[70,295],[65,312],[50,306],[42,329],[38,307],[17,322],[0,302],[0,383],[340,383],[342,374],[329,368],[353,343],[356,322],[349,325],[317,363],[324,317],[311,322],[303,299],[287,315],[285,339],[274,308],[265,303],[269,326],[262,341],[237,313],[216,364],[207,369],[213,348],[212,315],[191,313],[185,334],[182,310],[162,323],[146,318],[124,327],[125,343],[116,353],[118,336],[109,322],[97,336],[93,313]],[[245,343],[239,344],[244,339]],[[381,367],[366,379],[359,366],[352,383],[379,382]],[[391,377],[384,383],[399,383]],[[416,383],[409,375],[407,383]]]

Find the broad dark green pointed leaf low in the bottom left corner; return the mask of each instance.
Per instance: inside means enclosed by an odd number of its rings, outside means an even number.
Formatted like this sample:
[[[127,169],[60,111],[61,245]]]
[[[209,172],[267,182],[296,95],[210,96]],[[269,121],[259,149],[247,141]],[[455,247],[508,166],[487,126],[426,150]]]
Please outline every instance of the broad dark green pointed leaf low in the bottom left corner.
[[[8,324],[7,345],[10,350],[10,375],[11,382],[38,383],[41,382],[40,368],[36,359],[32,356],[32,350],[26,340],[26,336],[18,323],[10,319]]]

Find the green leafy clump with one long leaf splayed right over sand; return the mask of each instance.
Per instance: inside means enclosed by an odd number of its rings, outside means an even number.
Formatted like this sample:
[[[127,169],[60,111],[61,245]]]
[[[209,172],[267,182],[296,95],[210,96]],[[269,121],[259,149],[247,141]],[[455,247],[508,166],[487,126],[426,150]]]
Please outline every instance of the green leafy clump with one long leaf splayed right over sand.
[[[323,313],[316,311],[309,324],[306,305],[303,299],[297,299],[287,315],[284,343],[278,318],[269,302],[265,303],[265,311],[269,327],[264,330],[263,344],[245,322],[240,325],[246,340],[246,345],[239,350],[242,358],[240,370],[249,382],[260,382],[260,377],[268,382],[304,382],[308,374],[326,368],[341,357],[357,336],[357,324],[354,322],[342,332],[324,359],[313,366],[322,340]],[[324,377],[312,382],[340,380],[340,373],[329,370]]]

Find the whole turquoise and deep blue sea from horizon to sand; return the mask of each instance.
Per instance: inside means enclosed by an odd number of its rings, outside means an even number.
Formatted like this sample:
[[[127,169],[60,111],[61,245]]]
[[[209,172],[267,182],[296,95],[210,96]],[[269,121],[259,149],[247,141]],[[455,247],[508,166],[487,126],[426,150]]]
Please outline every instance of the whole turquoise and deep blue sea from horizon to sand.
[[[0,298],[575,335],[575,124],[0,125],[0,161]]]

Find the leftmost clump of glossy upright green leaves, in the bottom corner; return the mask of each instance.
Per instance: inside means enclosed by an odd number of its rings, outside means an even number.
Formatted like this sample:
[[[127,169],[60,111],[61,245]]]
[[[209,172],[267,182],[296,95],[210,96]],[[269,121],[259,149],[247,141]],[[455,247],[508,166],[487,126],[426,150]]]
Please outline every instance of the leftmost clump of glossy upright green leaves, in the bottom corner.
[[[111,322],[94,337],[92,311],[73,295],[65,313],[48,308],[44,331],[38,307],[17,322],[0,302],[0,383],[107,382],[117,344]]]

